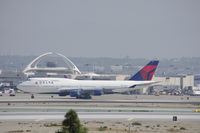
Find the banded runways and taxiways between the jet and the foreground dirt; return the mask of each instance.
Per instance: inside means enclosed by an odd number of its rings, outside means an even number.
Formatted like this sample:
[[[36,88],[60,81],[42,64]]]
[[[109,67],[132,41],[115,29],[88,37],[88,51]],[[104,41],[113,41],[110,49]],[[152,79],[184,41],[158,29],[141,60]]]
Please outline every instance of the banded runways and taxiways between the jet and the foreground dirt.
[[[180,119],[200,120],[200,113],[193,112],[199,107],[199,97],[102,95],[79,100],[56,95],[36,95],[35,99],[28,96],[1,97],[0,120],[61,120],[69,109],[76,110],[81,119],[172,119],[178,115]]]

